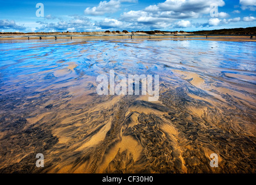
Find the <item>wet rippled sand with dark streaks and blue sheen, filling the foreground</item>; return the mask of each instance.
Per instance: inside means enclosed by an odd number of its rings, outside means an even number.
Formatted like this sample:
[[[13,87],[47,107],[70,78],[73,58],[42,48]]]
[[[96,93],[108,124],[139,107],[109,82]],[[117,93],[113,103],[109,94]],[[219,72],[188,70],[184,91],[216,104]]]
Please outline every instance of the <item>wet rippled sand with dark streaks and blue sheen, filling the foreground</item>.
[[[1,173],[256,172],[255,42],[0,45]],[[96,77],[111,69],[160,75],[160,98],[98,95]]]

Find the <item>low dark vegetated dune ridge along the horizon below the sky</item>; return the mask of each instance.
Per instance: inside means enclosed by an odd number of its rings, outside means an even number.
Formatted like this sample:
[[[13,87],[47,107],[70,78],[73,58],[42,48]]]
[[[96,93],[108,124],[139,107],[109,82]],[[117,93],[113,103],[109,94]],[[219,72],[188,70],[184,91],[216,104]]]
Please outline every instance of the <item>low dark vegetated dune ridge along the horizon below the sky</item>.
[[[195,35],[256,35],[256,27],[248,27],[248,28],[231,28],[231,29],[215,29],[215,30],[203,30],[203,31],[193,31],[193,32],[185,32],[185,31],[159,31],[159,30],[154,30],[154,31],[132,31],[132,34],[149,34],[149,35],[154,35],[154,34],[195,34]],[[0,35],[3,34],[88,34],[92,32],[0,32]],[[128,34],[129,32],[127,30],[123,31],[105,31],[105,34]]]

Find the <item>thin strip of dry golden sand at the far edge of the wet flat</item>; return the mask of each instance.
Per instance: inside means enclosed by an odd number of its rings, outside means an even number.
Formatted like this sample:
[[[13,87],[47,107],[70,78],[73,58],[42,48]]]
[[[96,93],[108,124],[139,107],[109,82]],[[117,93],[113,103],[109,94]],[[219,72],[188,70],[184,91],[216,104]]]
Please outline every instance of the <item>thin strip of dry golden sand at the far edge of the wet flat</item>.
[[[132,33],[129,34],[105,34],[104,32],[88,32],[86,35],[80,34],[4,34],[0,36],[0,42],[5,42],[4,40],[39,40],[41,37],[42,40],[52,40],[55,39],[83,39],[83,40],[112,40],[112,39],[171,39],[171,40],[188,40],[188,39],[208,39],[208,40],[217,40],[217,41],[233,41],[233,42],[255,42],[256,37],[253,36],[253,39],[250,36],[237,36],[237,35],[194,35],[188,33],[176,33],[176,34],[138,34]],[[207,38],[206,38],[207,36]]]

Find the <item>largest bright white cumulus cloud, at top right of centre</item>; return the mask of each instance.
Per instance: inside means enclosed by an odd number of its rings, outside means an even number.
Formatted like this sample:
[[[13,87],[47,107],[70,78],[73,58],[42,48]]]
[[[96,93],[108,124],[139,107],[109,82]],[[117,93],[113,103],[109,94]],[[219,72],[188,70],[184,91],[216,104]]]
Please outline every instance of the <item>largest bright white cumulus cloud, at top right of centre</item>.
[[[217,3],[218,6],[225,5],[223,0],[166,0],[163,3],[157,3],[157,5],[147,6],[142,10],[124,12],[121,14],[120,20],[139,27],[149,27],[150,29],[162,29],[170,25],[185,28],[191,25],[188,19],[210,14],[212,3]],[[219,16],[225,18],[229,14],[221,12]],[[175,21],[178,22],[175,23]]]

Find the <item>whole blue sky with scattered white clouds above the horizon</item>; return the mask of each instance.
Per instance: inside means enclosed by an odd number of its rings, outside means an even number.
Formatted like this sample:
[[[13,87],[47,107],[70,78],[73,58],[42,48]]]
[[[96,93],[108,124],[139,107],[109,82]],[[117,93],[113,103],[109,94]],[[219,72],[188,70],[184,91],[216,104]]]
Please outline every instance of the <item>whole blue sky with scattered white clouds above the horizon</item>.
[[[36,8],[37,3],[44,5],[44,12],[39,11],[42,6]],[[256,0],[1,0],[0,31],[246,28],[256,26],[255,11]]]

